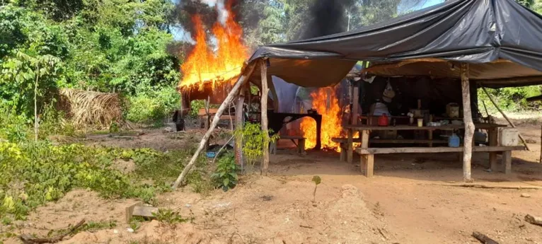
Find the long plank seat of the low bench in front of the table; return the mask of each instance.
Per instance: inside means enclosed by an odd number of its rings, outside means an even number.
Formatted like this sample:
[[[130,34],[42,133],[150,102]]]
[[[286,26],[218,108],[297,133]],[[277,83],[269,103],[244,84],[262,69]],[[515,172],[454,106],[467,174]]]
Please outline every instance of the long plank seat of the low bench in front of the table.
[[[488,151],[519,151],[524,150],[524,146],[475,146],[474,152]],[[390,153],[455,153],[463,152],[462,147],[396,147],[396,148],[369,148],[356,149],[359,154],[390,154]]]

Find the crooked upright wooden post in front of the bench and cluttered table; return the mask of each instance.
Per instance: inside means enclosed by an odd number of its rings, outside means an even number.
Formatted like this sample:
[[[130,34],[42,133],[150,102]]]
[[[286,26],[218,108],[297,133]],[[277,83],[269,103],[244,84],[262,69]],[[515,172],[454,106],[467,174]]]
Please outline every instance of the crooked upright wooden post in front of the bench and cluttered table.
[[[463,122],[465,136],[463,141],[463,180],[473,182],[471,178],[471,161],[473,156],[474,123],[471,112],[471,86],[468,80],[468,64],[461,64],[461,90],[463,94]]]

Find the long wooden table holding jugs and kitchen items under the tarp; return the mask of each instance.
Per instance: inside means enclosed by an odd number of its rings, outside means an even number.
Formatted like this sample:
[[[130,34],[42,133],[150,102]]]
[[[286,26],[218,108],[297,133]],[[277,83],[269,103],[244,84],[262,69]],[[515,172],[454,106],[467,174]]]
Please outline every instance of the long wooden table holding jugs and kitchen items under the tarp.
[[[488,137],[489,137],[489,144],[490,146],[497,146],[497,129],[499,127],[507,127],[503,124],[474,124],[475,129],[487,129],[488,130]],[[379,127],[376,125],[367,125],[367,124],[347,124],[342,126],[343,129],[347,129],[348,134],[348,142],[347,142],[347,161],[349,163],[352,163],[353,159],[353,144],[354,144],[354,138],[353,134],[354,131],[359,131],[359,137],[362,139],[362,146],[361,149],[367,149],[369,148],[369,132],[376,131],[376,130],[427,130],[429,132],[429,139],[432,139],[432,132],[435,130],[455,130],[455,129],[465,129],[465,125],[442,125],[438,127],[417,127],[415,125],[397,125],[397,126],[388,126],[388,127]],[[490,152],[490,165],[491,168],[497,168],[497,152]]]

